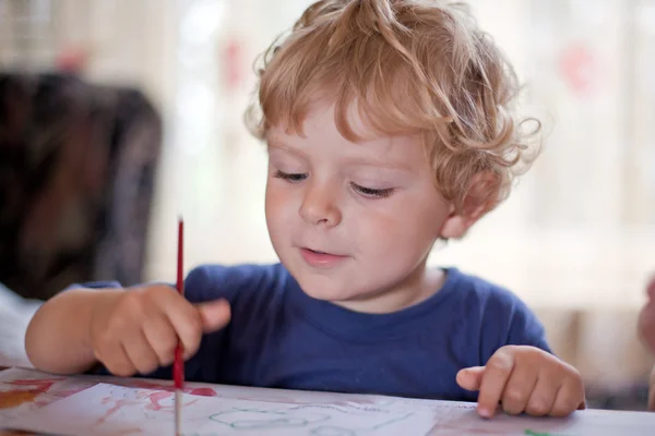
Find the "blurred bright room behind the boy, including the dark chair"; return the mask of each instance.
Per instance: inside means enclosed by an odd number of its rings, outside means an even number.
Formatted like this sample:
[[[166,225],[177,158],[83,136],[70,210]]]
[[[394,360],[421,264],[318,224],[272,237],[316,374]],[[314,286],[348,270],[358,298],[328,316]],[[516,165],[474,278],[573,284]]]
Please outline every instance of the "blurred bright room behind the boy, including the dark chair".
[[[643,409],[655,0],[469,3],[525,84],[521,110],[544,122],[545,147],[510,199],[430,263],[524,299],[594,405]],[[12,338],[70,282],[172,281],[180,214],[188,268],[276,261],[264,148],[242,112],[257,56],[308,4],[0,0],[0,358],[24,362]]]

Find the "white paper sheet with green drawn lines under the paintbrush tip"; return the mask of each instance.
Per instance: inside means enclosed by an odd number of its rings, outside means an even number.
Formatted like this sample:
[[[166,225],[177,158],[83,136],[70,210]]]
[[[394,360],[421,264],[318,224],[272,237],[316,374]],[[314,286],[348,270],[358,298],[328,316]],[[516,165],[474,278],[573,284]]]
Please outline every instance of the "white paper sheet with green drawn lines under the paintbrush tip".
[[[183,404],[187,435],[357,436],[407,429],[425,434],[432,425],[430,413],[358,403],[299,405],[184,395]],[[72,435],[167,434],[172,428],[174,396],[99,384],[21,422],[26,429],[57,428]]]

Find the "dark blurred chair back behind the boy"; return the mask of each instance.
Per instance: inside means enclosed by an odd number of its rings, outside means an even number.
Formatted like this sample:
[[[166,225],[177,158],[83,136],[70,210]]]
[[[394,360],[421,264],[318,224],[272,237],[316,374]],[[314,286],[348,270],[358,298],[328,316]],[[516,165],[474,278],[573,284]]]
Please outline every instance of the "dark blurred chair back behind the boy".
[[[129,88],[0,73],[0,283],[141,281],[162,122]]]

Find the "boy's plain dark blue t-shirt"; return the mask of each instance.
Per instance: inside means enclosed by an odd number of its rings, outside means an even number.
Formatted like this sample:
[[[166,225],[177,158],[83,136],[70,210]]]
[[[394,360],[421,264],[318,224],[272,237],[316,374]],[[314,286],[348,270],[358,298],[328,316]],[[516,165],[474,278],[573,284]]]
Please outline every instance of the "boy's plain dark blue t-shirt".
[[[541,324],[511,292],[445,269],[442,289],[391,314],[353,312],[307,295],[281,264],[201,266],[184,284],[193,303],[224,298],[231,322],[205,335],[186,378],[227,385],[476,401],[457,371],[500,347],[550,352]],[[170,378],[170,367],[148,377]]]

